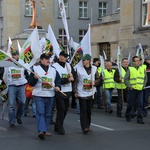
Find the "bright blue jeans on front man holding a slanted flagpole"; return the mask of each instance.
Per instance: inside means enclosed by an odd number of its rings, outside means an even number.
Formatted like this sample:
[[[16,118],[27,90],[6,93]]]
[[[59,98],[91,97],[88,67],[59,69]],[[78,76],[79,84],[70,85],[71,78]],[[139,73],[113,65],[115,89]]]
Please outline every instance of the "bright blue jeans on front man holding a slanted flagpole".
[[[33,96],[36,104],[36,125],[38,132],[47,132],[50,126],[54,97]]]

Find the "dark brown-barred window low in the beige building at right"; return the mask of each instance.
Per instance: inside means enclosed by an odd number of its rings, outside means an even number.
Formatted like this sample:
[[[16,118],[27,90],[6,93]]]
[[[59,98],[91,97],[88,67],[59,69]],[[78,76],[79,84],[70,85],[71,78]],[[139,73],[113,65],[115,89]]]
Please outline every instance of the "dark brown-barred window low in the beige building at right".
[[[99,54],[104,57],[103,51],[105,51],[107,60],[110,60],[110,58],[111,58],[110,43],[100,43],[99,44]]]

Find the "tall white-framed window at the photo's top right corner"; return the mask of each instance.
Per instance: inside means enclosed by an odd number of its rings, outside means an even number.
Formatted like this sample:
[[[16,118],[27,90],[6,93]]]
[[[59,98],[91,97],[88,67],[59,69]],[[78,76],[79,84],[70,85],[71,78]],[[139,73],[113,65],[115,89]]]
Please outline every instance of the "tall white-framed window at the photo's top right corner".
[[[150,26],[150,2],[149,0],[142,1],[142,26]]]

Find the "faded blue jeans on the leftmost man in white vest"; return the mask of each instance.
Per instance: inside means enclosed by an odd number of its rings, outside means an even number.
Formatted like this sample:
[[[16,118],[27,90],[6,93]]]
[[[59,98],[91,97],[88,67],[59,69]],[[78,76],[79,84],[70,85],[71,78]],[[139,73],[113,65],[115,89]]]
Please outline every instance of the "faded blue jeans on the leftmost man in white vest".
[[[15,112],[16,100],[18,100],[17,112]],[[20,86],[9,85],[8,87],[9,124],[15,124],[15,118],[21,119],[25,101],[26,101],[25,85]]]

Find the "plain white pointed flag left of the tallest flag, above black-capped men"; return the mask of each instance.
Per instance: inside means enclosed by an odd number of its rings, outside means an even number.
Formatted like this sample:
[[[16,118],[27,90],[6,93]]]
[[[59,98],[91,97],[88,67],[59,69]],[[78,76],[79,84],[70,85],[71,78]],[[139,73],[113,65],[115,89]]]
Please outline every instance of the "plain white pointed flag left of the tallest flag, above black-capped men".
[[[61,48],[56,40],[55,34],[54,34],[50,24],[48,26],[48,33],[46,34],[46,38],[50,41],[50,44],[53,47],[53,55],[51,57],[51,62],[52,62],[55,55],[57,56],[57,58],[59,58],[59,53],[61,51]]]

